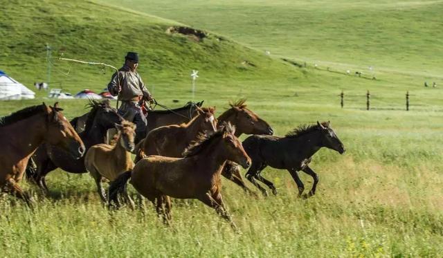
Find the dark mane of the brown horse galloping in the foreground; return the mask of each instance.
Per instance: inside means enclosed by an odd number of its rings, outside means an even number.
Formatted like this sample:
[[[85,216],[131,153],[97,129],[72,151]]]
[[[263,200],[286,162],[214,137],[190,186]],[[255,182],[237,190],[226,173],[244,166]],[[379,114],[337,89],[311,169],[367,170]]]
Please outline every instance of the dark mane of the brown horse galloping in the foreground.
[[[223,136],[224,133],[235,133],[235,127],[230,125],[230,123],[224,123],[217,131],[201,133],[199,136],[197,136],[197,140],[189,145],[185,151],[183,151],[182,156],[188,158],[190,156],[199,154],[201,151],[206,149],[206,147],[208,147],[213,140]]]

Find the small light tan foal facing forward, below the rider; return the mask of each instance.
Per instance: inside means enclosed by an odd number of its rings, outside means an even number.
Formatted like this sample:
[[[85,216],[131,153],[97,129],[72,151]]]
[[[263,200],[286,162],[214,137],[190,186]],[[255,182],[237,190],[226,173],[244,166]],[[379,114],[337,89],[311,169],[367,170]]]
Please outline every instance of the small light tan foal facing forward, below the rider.
[[[98,194],[103,202],[107,199],[105,189],[102,187],[102,178],[114,181],[120,174],[134,167],[130,151],[134,150],[136,125],[123,121],[121,125],[116,124],[116,129],[118,131],[116,145],[105,143],[93,145],[84,156],[84,166],[95,179]],[[130,200],[127,194],[125,198]]]

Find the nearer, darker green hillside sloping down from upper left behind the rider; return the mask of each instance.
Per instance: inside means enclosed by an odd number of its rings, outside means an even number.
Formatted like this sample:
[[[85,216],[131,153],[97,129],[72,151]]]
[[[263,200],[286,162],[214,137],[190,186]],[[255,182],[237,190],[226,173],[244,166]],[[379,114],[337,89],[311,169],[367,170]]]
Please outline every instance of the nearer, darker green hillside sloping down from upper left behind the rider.
[[[52,86],[69,91],[101,90],[112,71],[57,60],[69,57],[120,67],[128,50],[141,55],[139,72],[148,82],[203,77],[262,77],[292,73],[289,64],[271,59],[225,37],[172,33],[174,21],[91,1],[8,1],[0,10],[0,69],[24,84],[46,81],[46,43],[52,48]],[[157,80],[158,79],[158,80]]]

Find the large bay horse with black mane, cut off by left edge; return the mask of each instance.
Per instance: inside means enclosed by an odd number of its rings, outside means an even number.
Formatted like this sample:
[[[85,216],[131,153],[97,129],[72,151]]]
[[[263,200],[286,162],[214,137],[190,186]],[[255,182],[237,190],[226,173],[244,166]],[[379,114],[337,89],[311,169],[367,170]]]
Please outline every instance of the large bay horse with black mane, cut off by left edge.
[[[30,197],[17,183],[23,177],[30,156],[43,142],[64,149],[73,159],[83,156],[85,147],[82,140],[60,111],[62,109],[57,103],[54,107],[41,104],[0,119],[2,192],[8,192],[24,199],[28,205],[31,204]]]

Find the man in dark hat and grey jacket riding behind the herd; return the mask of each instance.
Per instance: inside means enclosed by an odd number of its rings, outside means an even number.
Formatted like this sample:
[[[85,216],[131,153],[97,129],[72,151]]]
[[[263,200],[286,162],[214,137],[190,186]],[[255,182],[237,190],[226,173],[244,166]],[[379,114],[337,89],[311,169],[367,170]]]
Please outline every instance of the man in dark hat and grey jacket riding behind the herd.
[[[145,101],[153,102],[154,98],[147,90],[145,83],[136,72],[138,66],[138,54],[128,52],[125,56],[125,64],[111,77],[107,88],[111,95],[118,95],[118,100],[122,102],[118,113],[126,120],[136,124],[136,140],[139,142],[145,138],[147,120],[143,113]]]

